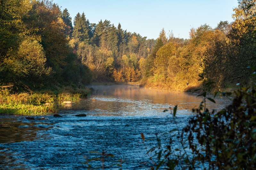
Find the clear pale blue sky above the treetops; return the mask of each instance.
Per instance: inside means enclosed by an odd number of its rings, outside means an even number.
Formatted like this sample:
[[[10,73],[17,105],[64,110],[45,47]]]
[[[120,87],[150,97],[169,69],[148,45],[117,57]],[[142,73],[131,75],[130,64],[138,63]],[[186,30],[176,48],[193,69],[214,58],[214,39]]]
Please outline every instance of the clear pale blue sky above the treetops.
[[[110,20],[116,27],[156,39],[162,28],[175,37],[189,38],[192,27],[216,27],[219,21],[232,22],[237,0],[53,0],[67,8],[72,19],[85,12],[90,23]]]

